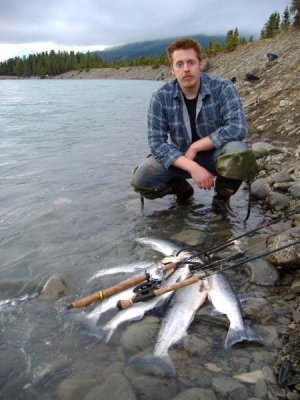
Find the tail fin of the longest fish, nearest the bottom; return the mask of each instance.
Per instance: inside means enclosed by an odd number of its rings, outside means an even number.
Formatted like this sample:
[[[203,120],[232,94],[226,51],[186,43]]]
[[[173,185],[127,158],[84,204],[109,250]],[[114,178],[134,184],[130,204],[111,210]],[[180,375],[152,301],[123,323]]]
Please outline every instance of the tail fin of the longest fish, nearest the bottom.
[[[142,368],[145,373],[151,375],[164,377],[176,375],[176,368],[169,355],[158,357],[153,352],[145,352],[131,358],[129,365],[136,366],[139,370]]]

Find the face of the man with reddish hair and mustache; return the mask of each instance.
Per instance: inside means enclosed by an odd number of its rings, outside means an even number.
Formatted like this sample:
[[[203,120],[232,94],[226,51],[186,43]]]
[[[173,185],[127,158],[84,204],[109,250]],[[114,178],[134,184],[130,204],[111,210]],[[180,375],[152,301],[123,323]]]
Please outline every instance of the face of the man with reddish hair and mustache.
[[[183,91],[199,87],[202,68],[203,62],[198,60],[194,49],[173,52],[171,70]]]

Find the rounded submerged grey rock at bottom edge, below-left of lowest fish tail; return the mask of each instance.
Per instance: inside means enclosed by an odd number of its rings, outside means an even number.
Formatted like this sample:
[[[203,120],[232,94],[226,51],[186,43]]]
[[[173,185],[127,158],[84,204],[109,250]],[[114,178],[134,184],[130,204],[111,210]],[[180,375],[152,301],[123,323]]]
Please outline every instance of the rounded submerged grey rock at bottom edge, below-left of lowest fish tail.
[[[77,396],[76,396],[77,397]],[[136,400],[129,381],[121,374],[113,374],[104,384],[94,386],[84,400]]]

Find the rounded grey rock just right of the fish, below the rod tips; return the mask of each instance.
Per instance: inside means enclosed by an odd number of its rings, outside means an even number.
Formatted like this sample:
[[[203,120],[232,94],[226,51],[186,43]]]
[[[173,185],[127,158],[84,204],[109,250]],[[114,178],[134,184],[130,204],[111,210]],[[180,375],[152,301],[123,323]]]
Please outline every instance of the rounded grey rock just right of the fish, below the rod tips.
[[[250,281],[257,285],[273,286],[279,282],[278,269],[268,260],[260,258],[247,263],[251,273]]]

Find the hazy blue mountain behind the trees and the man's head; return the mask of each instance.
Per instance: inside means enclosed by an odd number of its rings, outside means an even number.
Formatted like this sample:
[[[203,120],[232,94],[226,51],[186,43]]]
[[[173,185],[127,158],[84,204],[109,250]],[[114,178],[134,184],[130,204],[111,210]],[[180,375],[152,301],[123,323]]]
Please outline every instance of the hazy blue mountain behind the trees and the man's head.
[[[210,39],[213,42],[219,41],[224,43],[226,41],[226,36],[224,35],[189,35],[189,37],[200,42],[202,47],[206,47]],[[98,54],[101,58],[108,61],[128,60],[140,56],[159,56],[160,54],[166,54],[167,47],[176,39],[178,39],[178,37],[129,43],[123,46],[110,47],[102,51],[95,51],[91,54]]]

